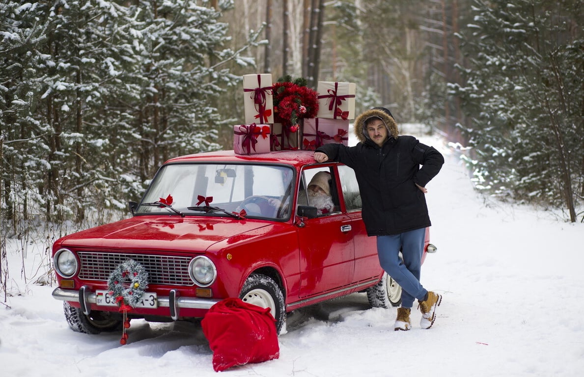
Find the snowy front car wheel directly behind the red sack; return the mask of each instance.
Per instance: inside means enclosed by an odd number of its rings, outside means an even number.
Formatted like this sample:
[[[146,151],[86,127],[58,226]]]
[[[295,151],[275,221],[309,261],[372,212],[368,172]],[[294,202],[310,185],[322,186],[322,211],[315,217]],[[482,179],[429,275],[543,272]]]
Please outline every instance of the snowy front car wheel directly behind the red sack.
[[[244,287],[241,288],[239,298],[262,308],[270,308],[272,316],[276,319],[276,333],[280,333],[284,323],[286,323],[286,307],[284,306],[284,295],[272,278],[260,274],[249,275]]]

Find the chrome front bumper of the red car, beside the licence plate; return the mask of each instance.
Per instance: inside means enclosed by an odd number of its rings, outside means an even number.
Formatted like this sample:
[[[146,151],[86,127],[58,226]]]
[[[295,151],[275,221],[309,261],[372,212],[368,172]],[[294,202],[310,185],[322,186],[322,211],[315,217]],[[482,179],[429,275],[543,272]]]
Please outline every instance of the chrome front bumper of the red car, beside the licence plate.
[[[79,288],[79,291],[55,288],[53,298],[61,301],[79,302],[85,315],[89,315],[91,312],[91,305],[89,304],[96,303],[95,292],[91,292],[86,285]],[[158,307],[170,308],[172,319],[177,320],[180,308],[210,309],[211,306],[219,301],[218,299],[210,298],[180,297],[176,289],[171,289],[168,296],[158,296]]]

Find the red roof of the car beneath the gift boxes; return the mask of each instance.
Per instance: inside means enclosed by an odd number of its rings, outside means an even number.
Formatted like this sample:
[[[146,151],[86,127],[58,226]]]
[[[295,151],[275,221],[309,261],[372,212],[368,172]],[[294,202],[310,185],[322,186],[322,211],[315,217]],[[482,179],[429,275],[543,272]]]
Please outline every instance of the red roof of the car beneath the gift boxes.
[[[234,151],[216,151],[203,152],[193,155],[179,156],[166,161],[166,163],[178,162],[203,162],[203,161],[220,161],[220,162],[265,162],[265,163],[283,163],[285,165],[303,166],[310,163],[316,163],[314,160],[314,151],[293,150],[293,151],[273,151],[267,153],[258,153],[253,155],[239,155]]]

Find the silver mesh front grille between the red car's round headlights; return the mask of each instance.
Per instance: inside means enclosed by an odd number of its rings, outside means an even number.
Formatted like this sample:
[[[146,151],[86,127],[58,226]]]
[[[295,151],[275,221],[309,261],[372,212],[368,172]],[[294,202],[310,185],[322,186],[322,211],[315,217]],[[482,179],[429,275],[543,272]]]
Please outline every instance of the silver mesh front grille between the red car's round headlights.
[[[100,252],[78,254],[81,259],[79,278],[83,280],[107,281],[120,263],[133,259],[148,271],[148,284],[194,285],[189,277],[189,262],[192,257]]]

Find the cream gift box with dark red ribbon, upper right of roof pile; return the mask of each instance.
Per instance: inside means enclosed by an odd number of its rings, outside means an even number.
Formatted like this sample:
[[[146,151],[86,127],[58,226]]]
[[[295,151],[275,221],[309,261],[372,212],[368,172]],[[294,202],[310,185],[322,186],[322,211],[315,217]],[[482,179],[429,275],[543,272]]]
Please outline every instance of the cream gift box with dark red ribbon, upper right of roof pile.
[[[319,81],[317,118],[354,119],[355,90],[352,82]]]

